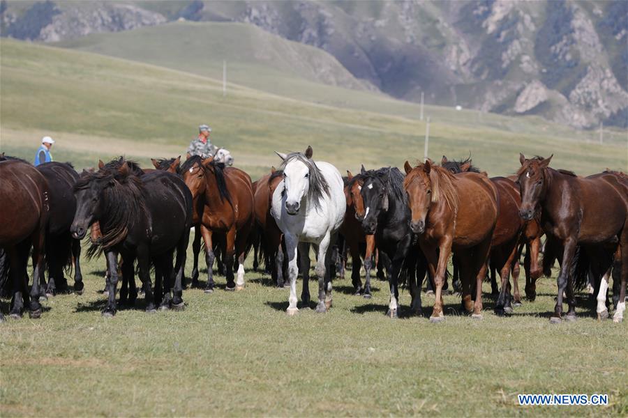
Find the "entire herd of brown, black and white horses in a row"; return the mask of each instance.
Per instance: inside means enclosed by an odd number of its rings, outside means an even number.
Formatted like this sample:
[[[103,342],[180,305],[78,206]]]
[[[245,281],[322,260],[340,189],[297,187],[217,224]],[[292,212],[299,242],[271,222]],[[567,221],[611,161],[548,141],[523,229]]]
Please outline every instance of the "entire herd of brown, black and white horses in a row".
[[[489,276],[497,293],[495,313],[511,314],[521,302],[519,261],[525,249],[525,295],[530,300],[536,295],[535,281],[550,273],[554,261],[560,263],[551,322],[576,319],[575,293],[587,284],[595,288],[597,318],[608,318],[611,277],[613,320],[623,318],[628,277],[624,173],[607,169],[583,178],[549,167],[551,157],[520,155],[516,175],[507,178],[489,178],[470,160],[446,157],[440,165],[426,160],[413,167],[406,161],[405,173],[362,166],[343,178],[333,165],[315,162],[311,147],[277,155],[281,166],[255,182],[214,157],[153,160],[154,169],[119,157],[79,174],[68,163],[33,167],[0,155],[0,283],[1,295],[12,298],[10,316],[20,318],[28,307],[30,316],[38,318],[40,298],[67,291],[63,271],[68,266],[75,272],[73,290],[82,292],[80,241],[89,230],[88,255],[104,254],[107,263],[103,315],[116,314],[118,281],[119,303],[135,302],[136,272],[147,311],[184,309],[186,252],[195,228],[191,286],[200,284],[203,246],[205,292],[214,291],[216,258],[227,291],[241,290],[244,260],[253,247],[254,268],[261,260],[277,286],[290,286],[290,315],[299,312],[299,272],[304,282],[301,309],[311,304],[313,247],[316,312],[332,307],[332,279],[343,277],[350,255],[356,295],[371,297],[374,268],[387,278],[391,318],[398,316],[403,285],[410,289],[412,314],[423,314],[421,288],[427,279],[435,295],[431,322],[444,320],[442,295],[449,280],[461,293],[463,310],[481,319],[482,283]],[[447,270],[451,256],[453,274]],[[34,270],[30,286],[29,258]],[[564,298],[569,306],[565,316]]]

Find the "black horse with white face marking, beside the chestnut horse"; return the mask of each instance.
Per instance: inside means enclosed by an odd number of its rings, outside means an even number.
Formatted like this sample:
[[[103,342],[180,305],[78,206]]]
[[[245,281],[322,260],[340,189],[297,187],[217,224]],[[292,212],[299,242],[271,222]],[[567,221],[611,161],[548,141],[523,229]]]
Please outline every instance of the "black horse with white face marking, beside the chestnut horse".
[[[397,168],[385,167],[366,171],[364,166],[352,182],[359,182],[360,195],[364,201],[364,213],[356,213],[361,219],[364,232],[375,234],[377,248],[390,260],[388,280],[390,285],[390,303],[387,315],[398,316],[398,281],[408,280],[412,302],[410,308],[414,314],[421,315],[421,284],[425,276],[426,263],[417,276],[417,266],[421,258],[418,245],[413,243],[414,234],[410,232],[410,208],[403,189],[403,174]],[[416,247],[415,251],[410,248]],[[417,255],[418,254],[418,255]]]

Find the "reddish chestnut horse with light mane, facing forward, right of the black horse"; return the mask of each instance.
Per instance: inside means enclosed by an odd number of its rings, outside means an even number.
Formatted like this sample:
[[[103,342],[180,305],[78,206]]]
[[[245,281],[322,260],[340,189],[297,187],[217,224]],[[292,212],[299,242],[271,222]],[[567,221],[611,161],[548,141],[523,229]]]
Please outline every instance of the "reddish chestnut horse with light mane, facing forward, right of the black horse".
[[[419,237],[429,270],[435,278],[436,300],[431,322],[444,320],[442,286],[447,262],[453,251],[460,263],[463,306],[482,318],[482,281],[486,277],[488,254],[498,218],[498,191],[478,173],[456,176],[427,160],[412,168],[404,165],[408,205],[412,210],[410,229]],[[472,302],[472,279],[476,283]]]

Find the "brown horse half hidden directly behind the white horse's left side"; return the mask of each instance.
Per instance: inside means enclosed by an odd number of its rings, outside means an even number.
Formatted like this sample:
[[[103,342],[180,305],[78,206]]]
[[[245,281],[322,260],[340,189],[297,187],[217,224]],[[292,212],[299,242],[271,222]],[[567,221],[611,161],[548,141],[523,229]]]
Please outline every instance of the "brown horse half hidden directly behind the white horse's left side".
[[[270,267],[271,277],[278,287],[290,285],[284,281],[282,248],[282,233],[271,215],[273,193],[283,180],[283,171],[271,169],[271,173],[262,176],[255,182],[255,223],[259,233],[260,244],[262,245],[262,256],[265,264]]]

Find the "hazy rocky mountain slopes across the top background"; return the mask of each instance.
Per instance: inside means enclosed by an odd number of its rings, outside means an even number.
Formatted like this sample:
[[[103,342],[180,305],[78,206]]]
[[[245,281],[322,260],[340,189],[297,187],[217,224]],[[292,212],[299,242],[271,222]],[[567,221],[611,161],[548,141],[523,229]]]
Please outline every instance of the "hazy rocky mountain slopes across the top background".
[[[2,34],[54,41],[233,21],[324,49],[396,98],[628,126],[627,1],[3,1]]]

